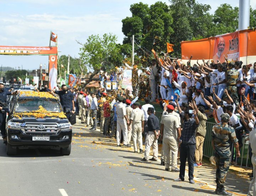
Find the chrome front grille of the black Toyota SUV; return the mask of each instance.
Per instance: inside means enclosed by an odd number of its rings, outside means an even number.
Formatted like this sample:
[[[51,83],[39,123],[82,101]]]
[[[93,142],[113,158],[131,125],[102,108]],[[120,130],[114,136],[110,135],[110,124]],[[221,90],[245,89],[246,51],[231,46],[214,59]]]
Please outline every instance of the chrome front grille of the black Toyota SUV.
[[[45,129],[44,130],[39,130],[38,129],[38,125],[44,125]],[[58,131],[58,125],[55,123],[42,123],[42,124],[38,124],[38,123],[26,123],[26,125],[24,126],[24,130],[26,132],[26,134],[28,135],[34,135],[34,134],[56,134]]]

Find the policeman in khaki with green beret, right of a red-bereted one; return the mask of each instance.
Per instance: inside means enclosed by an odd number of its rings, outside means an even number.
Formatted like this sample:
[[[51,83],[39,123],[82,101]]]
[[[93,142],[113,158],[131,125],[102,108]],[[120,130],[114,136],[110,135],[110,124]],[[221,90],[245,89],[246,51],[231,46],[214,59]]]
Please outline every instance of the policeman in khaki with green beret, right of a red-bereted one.
[[[144,131],[144,112],[139,109],[140,103],[135,102],[134,103],[135,108],[132,110],[132,113],[130,115],[130,123],[129,123],[129,129],[130,125],[132,124],[132,136],[133,136],[133,148],[134,152],[138,152],[137,148],[137,140],[139,145],[139,153],[143,153],[142,150],[142,132]]]

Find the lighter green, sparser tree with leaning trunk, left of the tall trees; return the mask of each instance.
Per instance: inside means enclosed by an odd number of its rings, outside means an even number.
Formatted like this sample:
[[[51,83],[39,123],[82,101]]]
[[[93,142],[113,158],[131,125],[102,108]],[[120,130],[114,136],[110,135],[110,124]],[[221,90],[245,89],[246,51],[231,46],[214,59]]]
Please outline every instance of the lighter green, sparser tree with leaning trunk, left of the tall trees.
[[[85,44],[80,48],[81,64],[86,65],[89,71],[92,72],[89,83],[101,69],[112,69],[115,66],[122,64],[123,57],[121,55],[120,45],[117,43],[115,35],[104,34],[91,35]]]

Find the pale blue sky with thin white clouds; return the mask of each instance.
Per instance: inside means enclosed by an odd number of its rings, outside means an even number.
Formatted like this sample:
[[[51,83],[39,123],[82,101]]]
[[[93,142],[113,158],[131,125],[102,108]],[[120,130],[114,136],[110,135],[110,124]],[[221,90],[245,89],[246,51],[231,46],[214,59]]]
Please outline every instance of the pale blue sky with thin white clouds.
[[[156,0],[0,0],[0,45],[49,46],[50,31],[58,34],[59,55],[79,58],[80,45],[92,34],[113,33],[122,43],[122,19],[131,17],[130,5],[138,2],[151,5]],[[170,5],[168,0],[162,0]],[[220,4],[239,6],[239,0],[198,0],[209,4],[214,13]],[[251,0],[256,9],[256,1]],[[54,45],[52,42],[51,45]],[[39,69],[48,65],[47,56],[0,55],[0,65]]]

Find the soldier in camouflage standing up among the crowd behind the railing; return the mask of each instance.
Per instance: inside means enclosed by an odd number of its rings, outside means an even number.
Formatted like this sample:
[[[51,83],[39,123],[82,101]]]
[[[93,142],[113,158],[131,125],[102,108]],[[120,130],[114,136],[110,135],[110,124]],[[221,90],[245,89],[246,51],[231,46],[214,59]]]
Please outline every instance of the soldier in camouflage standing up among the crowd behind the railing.
[[[238,106],[238,92],[236,88],[236,82],[238,81],[239,71],[235,69],[234,62],[228,64],[228,71],[226,71],[226,81],[228,85],[228,93],[233,99],[236,106]]]

